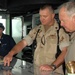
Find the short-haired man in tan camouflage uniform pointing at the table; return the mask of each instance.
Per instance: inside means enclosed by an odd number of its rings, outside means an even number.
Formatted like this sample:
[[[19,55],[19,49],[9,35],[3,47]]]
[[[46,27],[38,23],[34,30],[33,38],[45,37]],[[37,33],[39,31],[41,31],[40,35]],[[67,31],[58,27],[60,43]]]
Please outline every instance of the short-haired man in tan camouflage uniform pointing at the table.
[[[36,37],[37,47],[34,52],[34,75],[41,75],[43,71],[55,71],[63,74],[62,66],[60,65],[64,61],[67,46],[69,45],[69,37],[63,29],[60,29],[59,47],[62,53],[56,59],[57,30],[59,29],[59,25],[54,19],[54,11],[50,5],[45,5],[40,8],[39,14],[41,24],[33,28],[29,34],[9,52],[4,58],[4,65],[6,65],[6,63],[9,65],[14,54],[21,51],[25,46],[33,43],[39,29]]]

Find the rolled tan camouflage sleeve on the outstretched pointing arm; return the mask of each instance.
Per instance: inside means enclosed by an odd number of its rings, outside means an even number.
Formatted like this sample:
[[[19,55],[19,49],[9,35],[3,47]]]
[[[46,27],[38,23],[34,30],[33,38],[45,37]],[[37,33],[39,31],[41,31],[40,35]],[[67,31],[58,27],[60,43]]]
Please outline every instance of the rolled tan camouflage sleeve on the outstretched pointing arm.
[[[33,40],[35,39],[35,36],[36,36],[36,32],[37,32],[37,29],[34,28],[30,30],[29,34],[24,37],[28,46],[30,46],[33,43]]]

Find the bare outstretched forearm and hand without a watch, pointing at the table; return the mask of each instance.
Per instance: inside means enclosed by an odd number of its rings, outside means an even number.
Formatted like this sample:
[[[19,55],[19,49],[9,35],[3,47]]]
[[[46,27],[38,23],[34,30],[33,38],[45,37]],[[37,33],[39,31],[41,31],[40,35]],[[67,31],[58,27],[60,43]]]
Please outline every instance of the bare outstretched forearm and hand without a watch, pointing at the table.
[[[24,47],[27,46],[26,41],[23,39],[22,41],[20,41],[19,43],[17,43],[12,49],[11,51],[4,57],[3,61],[4,61],[4,66],[6,65],[10,65],[10,62],[12,61],[12,57],[13,55],[15,55],[16,53],[20,52]]]

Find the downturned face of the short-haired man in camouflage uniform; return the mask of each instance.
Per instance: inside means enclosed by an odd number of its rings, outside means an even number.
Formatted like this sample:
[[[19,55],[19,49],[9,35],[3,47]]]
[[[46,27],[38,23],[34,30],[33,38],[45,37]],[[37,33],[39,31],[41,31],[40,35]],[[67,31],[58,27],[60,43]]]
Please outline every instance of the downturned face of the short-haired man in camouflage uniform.
[[[48,8],[39,11],[40,21],[43,25],[51,25],[54,20],[54,14]]]

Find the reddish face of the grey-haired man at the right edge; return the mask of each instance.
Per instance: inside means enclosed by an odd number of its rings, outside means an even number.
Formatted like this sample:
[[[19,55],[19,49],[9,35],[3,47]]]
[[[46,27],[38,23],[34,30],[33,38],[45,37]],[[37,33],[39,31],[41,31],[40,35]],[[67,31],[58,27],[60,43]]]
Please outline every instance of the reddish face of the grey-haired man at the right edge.
[[[75,25],[73,23],[73,19],[67,14],[65,8],[60,9],[59,19],[61,21],[61,26],[63,26],[67,32],[75,31]]]

